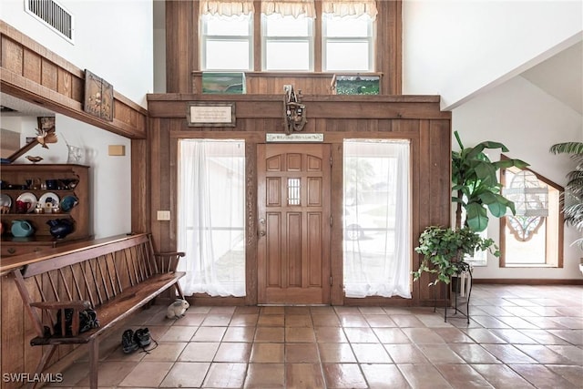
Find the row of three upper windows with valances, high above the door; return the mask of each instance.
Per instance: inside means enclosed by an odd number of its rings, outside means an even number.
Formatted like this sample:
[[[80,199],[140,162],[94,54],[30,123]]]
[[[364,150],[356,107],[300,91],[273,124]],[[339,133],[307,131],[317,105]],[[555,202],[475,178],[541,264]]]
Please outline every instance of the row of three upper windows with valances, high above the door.
[[[253,3],[200,2],[201,70],[374,71],[373,1]]]

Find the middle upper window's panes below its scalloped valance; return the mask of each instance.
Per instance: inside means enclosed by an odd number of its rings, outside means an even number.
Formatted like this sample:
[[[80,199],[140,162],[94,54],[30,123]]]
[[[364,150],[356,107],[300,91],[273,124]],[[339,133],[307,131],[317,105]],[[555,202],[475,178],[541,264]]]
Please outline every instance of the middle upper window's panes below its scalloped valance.
[[[263,70],[313,70],[312,17],[263,14],[261,20]]]

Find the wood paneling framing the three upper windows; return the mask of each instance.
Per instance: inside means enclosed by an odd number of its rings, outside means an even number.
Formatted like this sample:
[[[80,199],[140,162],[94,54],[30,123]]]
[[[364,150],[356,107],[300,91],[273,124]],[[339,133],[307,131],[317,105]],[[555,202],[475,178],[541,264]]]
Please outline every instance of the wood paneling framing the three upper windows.
[[[316,9],[320,9],[316,2]],[[401,0],[377,1],[374,73],[380,75],[382,95],[401,94],[402,74],[402,3]],[[261,2],[255,2],[255,36],[261,36]],[[261,72],[261,45],[254,46],[253,71],[246,72],[247,91],[281,93],[284,84],[302,89],[304,94],[332,95],[333,73],[322,73],[320,18],[316,20],[314,41],[315,72]],[[166,88],[169,93],[200,93],[199,1],[166,1]],[[255,39],[259,42],[259,38]]]

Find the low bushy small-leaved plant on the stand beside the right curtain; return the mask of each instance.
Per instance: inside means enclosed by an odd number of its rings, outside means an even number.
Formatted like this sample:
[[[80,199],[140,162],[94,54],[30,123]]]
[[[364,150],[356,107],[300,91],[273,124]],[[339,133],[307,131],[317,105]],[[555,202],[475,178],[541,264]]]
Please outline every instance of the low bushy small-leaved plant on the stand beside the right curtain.
[[[467,271],[468,264],[463,261],[465,254],[488,250],[496,257],[500,251],[492,239],[482,238],[468,227],[452,230],[438,226],[429,226],[419,237],[419,246],[414,249],[423,254],[418,271],[413,272],[414,281],[424,272],[435,273],[437,277],[429,285],[437,282],[449,283],[452,276]]]

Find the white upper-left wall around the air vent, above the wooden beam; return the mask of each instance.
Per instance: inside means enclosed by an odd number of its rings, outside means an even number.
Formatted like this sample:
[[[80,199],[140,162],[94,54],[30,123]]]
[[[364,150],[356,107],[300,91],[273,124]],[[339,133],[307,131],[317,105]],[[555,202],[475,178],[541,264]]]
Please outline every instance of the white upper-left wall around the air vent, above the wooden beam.
[[[25,12],[24,0],[2,0],[10,26],[88,69],[130,100],[147,107],[153,91],[152,0],[58,0],[75,16],[75,43]]]

